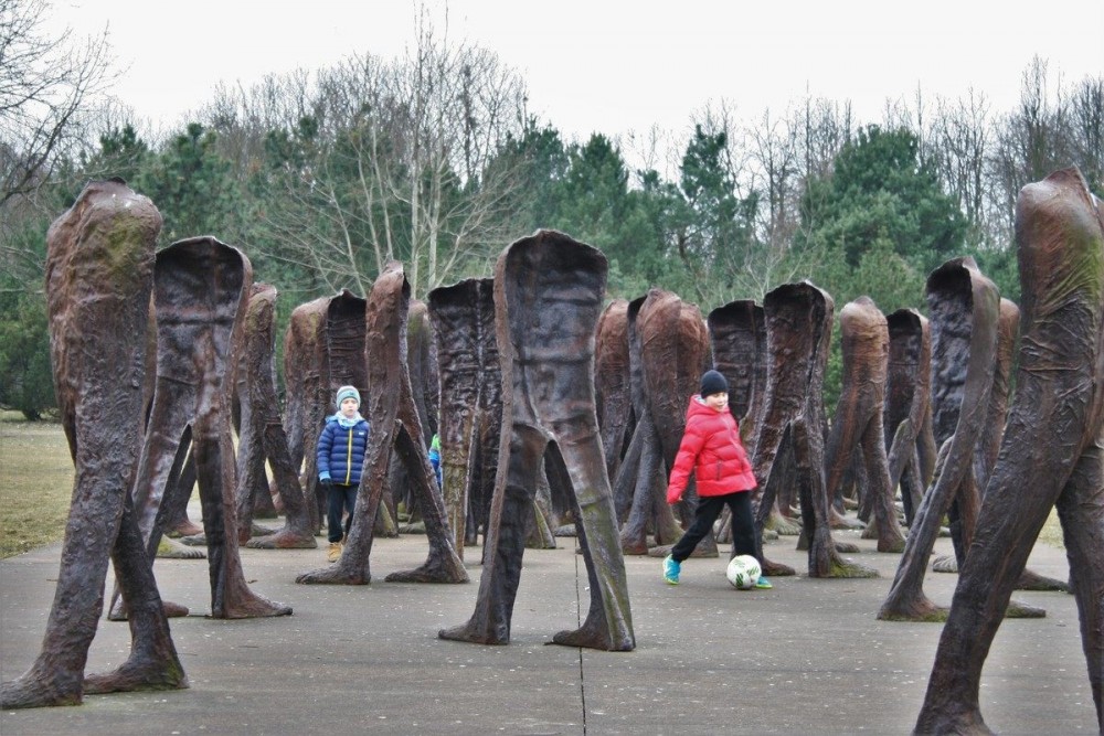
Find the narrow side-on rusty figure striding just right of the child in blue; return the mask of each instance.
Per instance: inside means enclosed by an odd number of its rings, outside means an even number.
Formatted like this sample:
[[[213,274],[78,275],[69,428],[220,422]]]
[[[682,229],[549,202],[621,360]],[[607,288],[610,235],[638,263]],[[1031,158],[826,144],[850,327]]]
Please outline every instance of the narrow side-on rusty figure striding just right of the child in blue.
[[[433,480],[433,468],[422,440],[421,420],[414,406],[405,355],[408,309],[410,284],[402,264],[392,262],[380,274],[369,295],[364,327],[367,354],[359,356],[359,363],[367,365],[365,383],[369,388],[365,405],[372,433],[364,455],[364,473],[357,492],[352,526],[341,558],[336,564],[299,575],[296,583],[371,583],[369,557],[372,553],[375,518],[383,494],[389,489],[388,466],[392,450],[406,465],[415,498],[422,508],[429,540],[429,556],[417,569],[392,573],[384,579],[406,583],[468,580],[464,563],[453,546],[445,504],[437,491],[436,481]],[[332,358],[331,353],[331,361]],[[357,361],[358,355],[350,352],[342,360]],[[331,362],[331,374],[333,366],[335,363]],[[351,374],[343,374],[341,377],[349,375]]]

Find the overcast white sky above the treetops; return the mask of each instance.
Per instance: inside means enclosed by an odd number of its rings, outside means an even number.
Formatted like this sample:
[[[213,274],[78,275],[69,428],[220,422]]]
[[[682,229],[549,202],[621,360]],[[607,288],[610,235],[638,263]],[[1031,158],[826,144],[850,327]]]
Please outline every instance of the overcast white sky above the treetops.
[[[353,52],[392,57],[408,44],[412,0],[242,2],[53,0],[56,22],[109,26],[116,94],[144,118],[174,125],[220,81],[314,70]],[[1022,6],[975,0],[428,0],[436,26],[519,71],[532,111],[566,138],[652,125],[687,128],[722,98],[737,116],[778,115],[806,94],[850,100],[862,121],[885,102],[965,96],[1012,109],[1032,56],[1050,78],[1104,74],[1104,0]]]

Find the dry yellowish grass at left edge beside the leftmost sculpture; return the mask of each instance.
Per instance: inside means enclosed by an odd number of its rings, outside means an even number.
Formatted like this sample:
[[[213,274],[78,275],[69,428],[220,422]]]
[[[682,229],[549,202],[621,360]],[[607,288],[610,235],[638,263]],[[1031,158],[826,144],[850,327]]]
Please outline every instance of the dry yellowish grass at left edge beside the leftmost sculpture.
[[[65,535],[73,461],[61,424],[0,413],[0,559]]]

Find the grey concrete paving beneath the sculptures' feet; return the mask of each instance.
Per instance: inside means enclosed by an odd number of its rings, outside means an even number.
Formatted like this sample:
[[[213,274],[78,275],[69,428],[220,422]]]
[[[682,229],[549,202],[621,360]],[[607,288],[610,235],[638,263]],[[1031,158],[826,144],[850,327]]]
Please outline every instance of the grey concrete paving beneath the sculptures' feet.
[[[0,714],[3,736],[78,734],[907,734],[916,721],[941,626],[874,618],[900,555],[839,532],[877,567],[877,579],[774,578],[737,591],[722,559],[690,559],[682,584],[660,561],[628,557],[637,649],[545,646],[588,605],[574,540],[526,553],[512,641],[443,641],[437,630],[474,609],[473,583],[384,583],[425,559],[424,536],[376,540],[370,586],[300,586],[325,562],[314,551],[243,550],[255,591],[291,604],[289,618],[216,621],[205,561],[155,566],[162,596],[192,607],[172,620],[191,687],[88,696],[77,707]],[[725,545],[726,547],[726,545]],[[795,538],[767,555],[804,573]],[[41,646],[61,545],[0,562],[0,676],[21,674]],[[940,540],[936,554],[949,553]],[[726,557],[726,555],[725,555]],[[1031,569],[1065,579],[1063,552],[1037,545]],[[927,595],[948,604],[956,575],[928,573]],[[1017,593],[1048,616],[1001,626],[986,663],[981,710],[1007,735],[1095,734],[1096,716],[1073,597]],[[102,620],[88,672],[113,669],[128,628]]]

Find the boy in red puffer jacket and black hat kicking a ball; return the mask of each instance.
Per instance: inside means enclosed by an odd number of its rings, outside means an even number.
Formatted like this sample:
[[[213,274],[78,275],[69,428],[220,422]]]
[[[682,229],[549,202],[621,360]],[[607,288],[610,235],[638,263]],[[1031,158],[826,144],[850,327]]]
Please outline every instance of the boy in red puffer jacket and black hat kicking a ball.
[[[682,500],[691,470],[698,481],[698,508],[690,529],[664,559],[664,579],[670,585],[679,584],[682,561],[713,530],[713,522],[725,504],[732,511],[733,551],[737,555],[755,556],[751,493],[755,490],[755,474],[740,442],[736,420],[729,412],[729,382],[718,371],[705,371],[700,393],[690,398],[687,428],[667,483],[668,503]],[[774,586],[761,576],[755,587]]]

